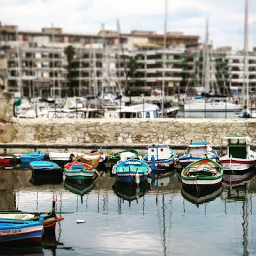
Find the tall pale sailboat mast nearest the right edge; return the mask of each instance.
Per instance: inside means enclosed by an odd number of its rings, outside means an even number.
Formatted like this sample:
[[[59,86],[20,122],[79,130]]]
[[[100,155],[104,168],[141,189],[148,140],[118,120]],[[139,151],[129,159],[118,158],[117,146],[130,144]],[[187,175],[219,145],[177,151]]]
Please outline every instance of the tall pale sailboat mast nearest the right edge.
[[[245,93],[246,92],[246,93]],[[249,77],[248,77],[248,0],[245,0],[244,8],[244,81],[243,81],[243,105],[249,108]]]

